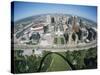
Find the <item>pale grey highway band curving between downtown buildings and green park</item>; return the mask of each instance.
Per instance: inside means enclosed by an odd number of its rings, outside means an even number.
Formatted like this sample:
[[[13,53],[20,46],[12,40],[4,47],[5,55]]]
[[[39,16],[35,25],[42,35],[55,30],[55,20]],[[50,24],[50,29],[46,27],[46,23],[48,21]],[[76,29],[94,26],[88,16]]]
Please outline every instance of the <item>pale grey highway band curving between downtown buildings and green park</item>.
[[[40,46],[40,45],[26,45],[26,44],[14,44],[14,50],[33,50],[33,49],[40,49],[45,51],[51,51],[51,52],[62,52],[62,51],[74,51],[74,50],[85,50],[89,48],[93,48],[97,46],[97,42],[92,41],[91,43],[87,43],[85,45],[80,45],[76,47],[67,47],[67,45],[57,45],[57,46]]]

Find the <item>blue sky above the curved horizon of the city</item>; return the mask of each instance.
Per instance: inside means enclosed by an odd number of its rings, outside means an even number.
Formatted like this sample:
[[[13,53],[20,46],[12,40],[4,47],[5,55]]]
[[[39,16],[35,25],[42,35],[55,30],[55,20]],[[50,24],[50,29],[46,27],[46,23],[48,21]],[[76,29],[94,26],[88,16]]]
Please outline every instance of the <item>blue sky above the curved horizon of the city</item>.
[[[63,13],[77,15],[97,22],[96,6],[48,4],[36,2],[14,2],[14,21],[29,16],[47,13]]]

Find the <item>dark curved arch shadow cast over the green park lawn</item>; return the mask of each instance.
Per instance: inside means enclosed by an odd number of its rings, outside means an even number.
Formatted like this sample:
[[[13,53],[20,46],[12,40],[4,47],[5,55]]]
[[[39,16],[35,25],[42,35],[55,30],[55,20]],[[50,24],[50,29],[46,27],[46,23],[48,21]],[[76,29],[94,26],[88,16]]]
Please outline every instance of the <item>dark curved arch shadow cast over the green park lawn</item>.
[[[41,71],[42,64],[43,64],[44,60],[45,60],[46,57],[47,57],[48,55],[50,55],[50,54],[57,54],[57,55],[59,55],[60,57],[62,57],[62,58],[69,64],[69,66],[71,67],[72,70],[76,70],[75,67],[74,67],[74,65],[72,65],[72,63],[71,63],[66,57],[64,57],[62,54],[59,54],[59,53],[57,53],[57,52],[50,52],[50,53],[46,54],[46,55],[42,58],[42,60],[41,60],[41,62],[40,62],[40,66],[39,66],[37,72],[40,72],[40,71]]]

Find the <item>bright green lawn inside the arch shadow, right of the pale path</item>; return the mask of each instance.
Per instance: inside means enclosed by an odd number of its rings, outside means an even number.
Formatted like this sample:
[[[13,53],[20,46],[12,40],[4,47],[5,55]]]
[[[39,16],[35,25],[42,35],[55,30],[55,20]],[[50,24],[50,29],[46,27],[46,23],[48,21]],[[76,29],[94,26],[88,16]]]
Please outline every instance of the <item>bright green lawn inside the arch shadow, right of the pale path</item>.
[[[70,69],[70,66],[62,57],[57,54],[52,54],[52,61],[47,71],[64,71]]]

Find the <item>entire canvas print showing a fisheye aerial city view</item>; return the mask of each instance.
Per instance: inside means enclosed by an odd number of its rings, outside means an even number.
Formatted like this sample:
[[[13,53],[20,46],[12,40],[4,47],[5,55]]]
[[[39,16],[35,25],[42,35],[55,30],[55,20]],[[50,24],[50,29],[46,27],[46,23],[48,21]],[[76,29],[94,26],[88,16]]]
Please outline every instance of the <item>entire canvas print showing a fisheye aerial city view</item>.
[[[11,72],[96,69],[96,12],[95,6],[13,2]]]

